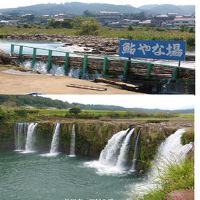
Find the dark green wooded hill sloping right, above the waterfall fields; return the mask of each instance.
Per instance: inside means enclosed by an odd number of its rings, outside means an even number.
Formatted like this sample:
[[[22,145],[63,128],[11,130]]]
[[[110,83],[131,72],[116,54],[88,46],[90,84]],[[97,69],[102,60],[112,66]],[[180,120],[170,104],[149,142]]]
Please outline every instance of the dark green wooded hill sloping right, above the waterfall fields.
[[[0,95],[0,106],[12,107],[35,107],[35,108],[56,108],[56,109],[69,109],[75,106],[83,110],[111,110],[111,111],[133,111],[133,112],[165,112],[165,113],[194,113],[193,109],[185,110],[160,110],[160,109],[144,109],[144,108],[124,108],[114,105],[85,105],[79,103],[68,103],[60,100],[52,100],[46,97],[34,97],[29,95]]]

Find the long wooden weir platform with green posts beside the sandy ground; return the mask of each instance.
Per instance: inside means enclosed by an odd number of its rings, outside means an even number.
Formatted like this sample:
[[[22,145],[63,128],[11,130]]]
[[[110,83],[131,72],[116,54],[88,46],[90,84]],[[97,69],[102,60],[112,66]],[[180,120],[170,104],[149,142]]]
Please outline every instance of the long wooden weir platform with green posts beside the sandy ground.
[[[17,53],[15,52],[18,48]],[[31,50],[30,54],[25,49]],[[44,51],[45,54],[39,54]],[[20,44],[11,44],[11,58],[18,62],[30,60],[34,68],[37,61],[43,61],[50,73],[53,64],[63,66],[64,75],[70,69],[80,69],[79,78],[85,79],[88,75],[99,74],[104,78],[124,82],[139,83],[146,88],[159,87],[163,80],[173,80],[178,84],[186,85],[184,93],[194,93],[195,70],[166,64],[155,64],[140,60],[120,58],[116,56],[94,56],[90,54],[75,54],[57,49],[45,49]],[[98,81],[98,78],[97,78]],[[185,86],[184,86],[185,87]],[[189,89],[188,89],[189,88]],[[189,91],[188,91],[189,90]]]

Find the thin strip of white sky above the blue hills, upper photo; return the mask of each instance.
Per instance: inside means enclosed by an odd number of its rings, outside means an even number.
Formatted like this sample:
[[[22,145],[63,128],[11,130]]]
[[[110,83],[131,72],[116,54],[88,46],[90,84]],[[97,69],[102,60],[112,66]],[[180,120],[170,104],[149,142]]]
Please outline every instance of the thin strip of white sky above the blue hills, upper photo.
[[[146,4],[175,4],[175,5],[195,5],[197,0],[1,0],[0,8],[13,8],[40,3],[65,3],[65,2],[84,2],[84,3],[110,3],[110,4],[129,4],[139,7]],[[199,1],[199,0],[198,0]]]

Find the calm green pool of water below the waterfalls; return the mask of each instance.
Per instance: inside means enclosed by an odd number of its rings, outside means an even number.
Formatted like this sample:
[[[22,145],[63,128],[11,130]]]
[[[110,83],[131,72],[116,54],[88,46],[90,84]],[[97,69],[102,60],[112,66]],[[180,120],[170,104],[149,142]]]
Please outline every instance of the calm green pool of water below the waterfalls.
[[[62,154],[42,157],[18,152],[0,153],[2,200],[125,200],[141,178],[98,175],[88,161]]]

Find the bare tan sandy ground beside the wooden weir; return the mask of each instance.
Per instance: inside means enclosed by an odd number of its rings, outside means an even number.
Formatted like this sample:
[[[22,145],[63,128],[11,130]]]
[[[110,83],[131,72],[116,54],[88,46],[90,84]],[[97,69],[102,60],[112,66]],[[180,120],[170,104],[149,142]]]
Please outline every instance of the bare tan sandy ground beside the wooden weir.
[[[107,91],[95,91],[67,87],[67,84],[79,84],[107,88]],[[0,94],[138,94],[131,91],[101,85],[87,80],[66,76],[52,76],[19,72],[12,68],[0,68]]]

